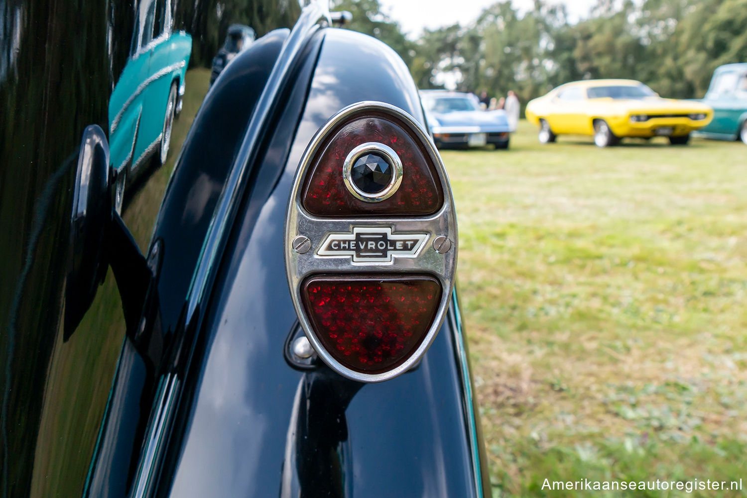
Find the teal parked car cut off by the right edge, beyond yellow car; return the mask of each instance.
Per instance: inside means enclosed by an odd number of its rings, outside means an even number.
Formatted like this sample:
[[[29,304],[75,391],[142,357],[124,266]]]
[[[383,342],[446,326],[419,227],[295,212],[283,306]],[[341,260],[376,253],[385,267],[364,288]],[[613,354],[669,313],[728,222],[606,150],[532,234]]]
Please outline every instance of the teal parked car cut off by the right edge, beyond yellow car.
[[[747,143],[747,63],[716,68],[702,102],[713,108],[713,121],[698,136]]]

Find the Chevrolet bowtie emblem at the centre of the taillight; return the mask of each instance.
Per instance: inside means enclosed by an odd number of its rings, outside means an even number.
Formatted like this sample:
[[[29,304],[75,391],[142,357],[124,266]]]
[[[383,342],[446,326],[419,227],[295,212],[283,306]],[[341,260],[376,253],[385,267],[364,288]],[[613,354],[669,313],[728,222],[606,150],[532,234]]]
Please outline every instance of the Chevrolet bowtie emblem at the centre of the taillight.
[[[391,233],[388,227],[353,227],[352,234],[329,233],[317,250],[317,255],[329,258],[352,256],[353,263],[391,263],[394,258],[415,258],[427,233]]]

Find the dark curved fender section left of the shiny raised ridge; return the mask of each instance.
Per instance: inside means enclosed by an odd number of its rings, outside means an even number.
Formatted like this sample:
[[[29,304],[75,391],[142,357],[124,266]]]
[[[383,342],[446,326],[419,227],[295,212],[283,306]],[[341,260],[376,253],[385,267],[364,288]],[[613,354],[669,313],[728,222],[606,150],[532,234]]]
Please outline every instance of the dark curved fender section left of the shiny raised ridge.
[[[153,240],[163,240],[158,273],[161,328],[176,330],[202,240],[226,175],[288,30],[273,31],[237,56],[205,97],[161,205]]]

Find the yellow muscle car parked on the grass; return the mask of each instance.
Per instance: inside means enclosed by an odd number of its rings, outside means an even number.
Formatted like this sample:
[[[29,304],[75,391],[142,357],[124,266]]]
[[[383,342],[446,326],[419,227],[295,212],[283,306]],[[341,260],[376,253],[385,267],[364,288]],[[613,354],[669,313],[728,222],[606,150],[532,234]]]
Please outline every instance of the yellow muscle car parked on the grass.
[[[527,104],[527,119],[539,126],[539,141],[560,134],[592,135],[607,147],[622,137],[669,137],[684,145],[690,132],[713,119],[713,109],[701,102],[662,99],[635,80],[584,80],[560,85]]]

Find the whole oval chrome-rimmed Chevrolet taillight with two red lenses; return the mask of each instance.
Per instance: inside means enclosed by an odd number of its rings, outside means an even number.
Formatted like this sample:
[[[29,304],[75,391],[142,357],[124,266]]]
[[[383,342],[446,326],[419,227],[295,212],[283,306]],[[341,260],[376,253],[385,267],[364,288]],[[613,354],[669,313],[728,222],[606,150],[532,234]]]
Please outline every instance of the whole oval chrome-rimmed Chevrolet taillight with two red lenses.
[[[409,370],[450,302],[456,240],[427,131],[380,102],[332,116],[300,162],[285,226],[291,296],[320,358],[361,382]]]

